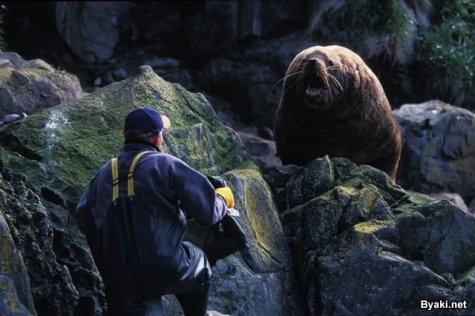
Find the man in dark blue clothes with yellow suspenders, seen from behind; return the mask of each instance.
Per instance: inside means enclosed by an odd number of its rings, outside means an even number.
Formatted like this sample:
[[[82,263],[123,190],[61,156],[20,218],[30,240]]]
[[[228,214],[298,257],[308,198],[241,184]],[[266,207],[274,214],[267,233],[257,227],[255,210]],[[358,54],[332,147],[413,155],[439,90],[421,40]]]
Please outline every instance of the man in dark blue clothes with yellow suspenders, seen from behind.
[[[200,248],[183,241],[186,219],[215,224],[234,197],[160,152],[169,125],[151,107],[129,112],[123,151],[97,172],[76,208],[109,315],[161,315],[165,294],[175,294],[187,316],[206,313],[211,268]]]

